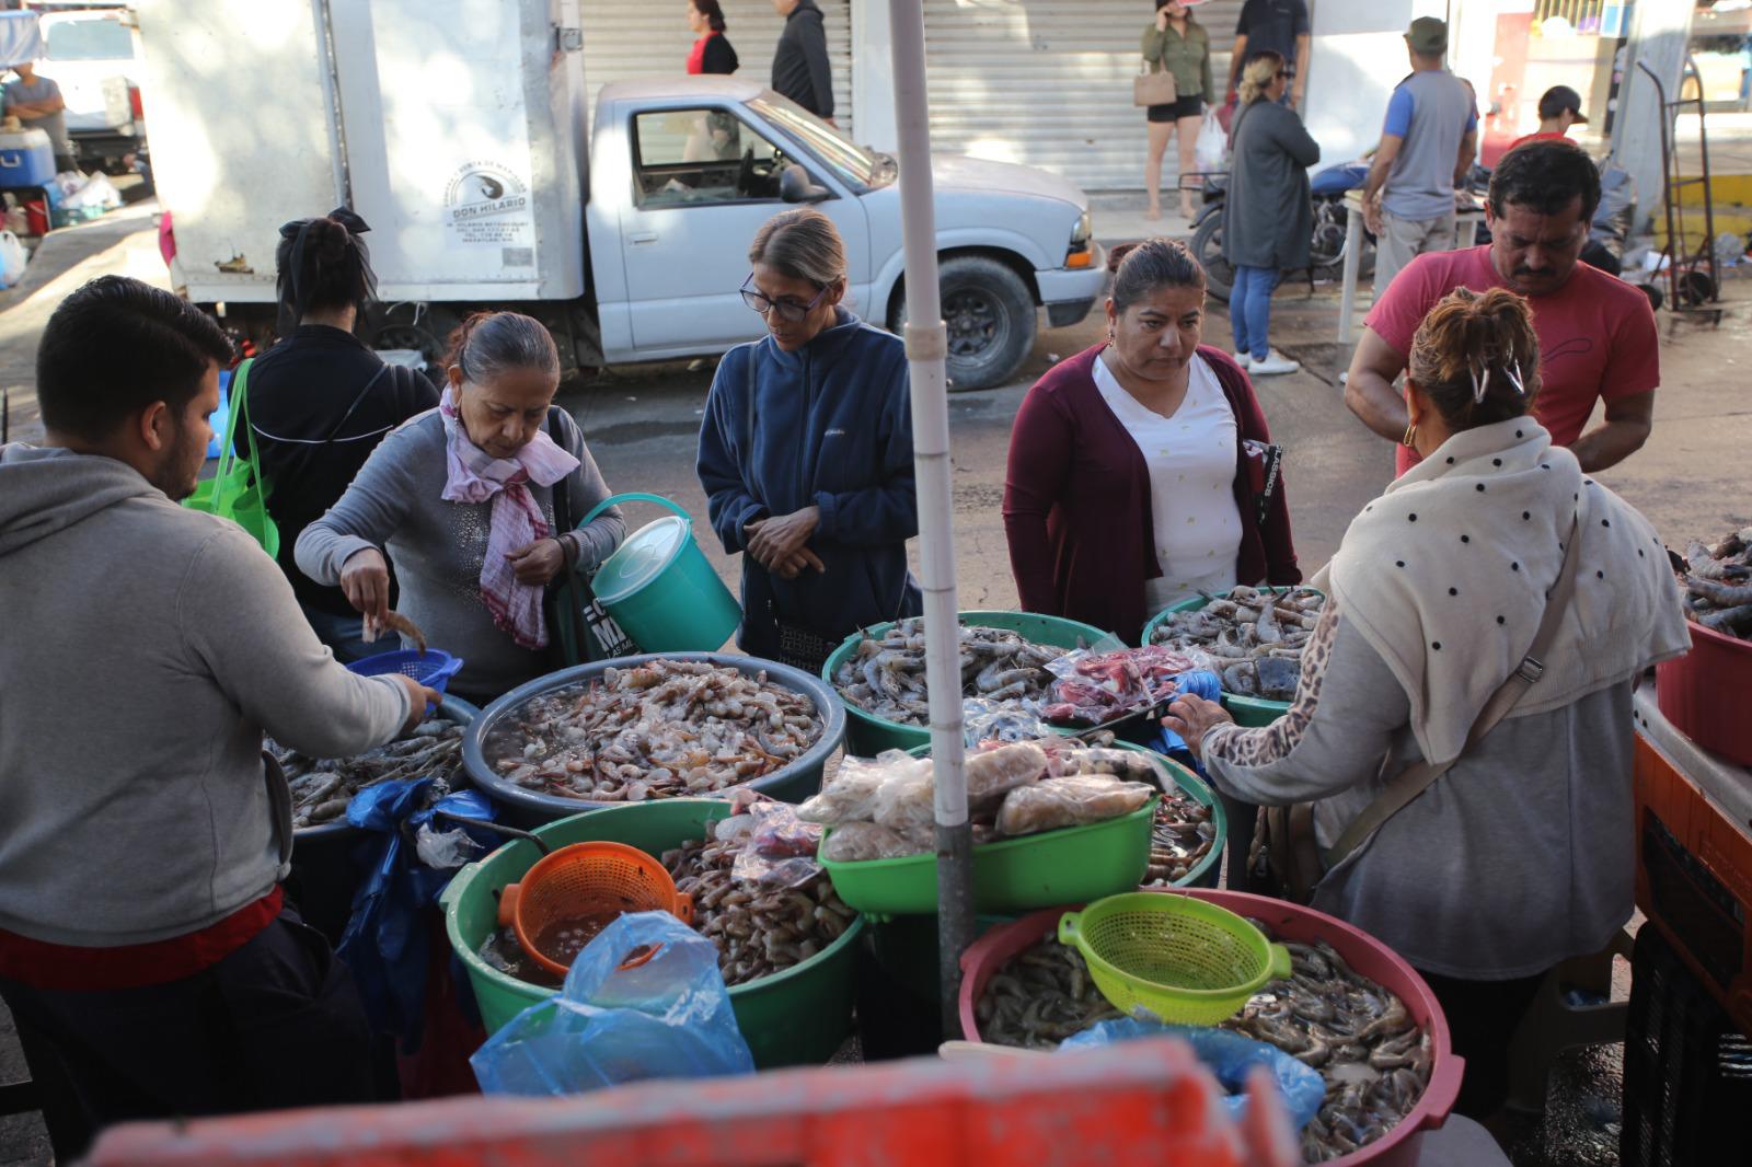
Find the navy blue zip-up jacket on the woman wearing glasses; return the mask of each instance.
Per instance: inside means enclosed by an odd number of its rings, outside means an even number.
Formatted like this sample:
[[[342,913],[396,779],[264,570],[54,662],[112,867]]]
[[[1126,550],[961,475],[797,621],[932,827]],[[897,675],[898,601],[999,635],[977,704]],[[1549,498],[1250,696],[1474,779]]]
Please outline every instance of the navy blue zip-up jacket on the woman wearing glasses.
[[[731,554],[748,550],[757,519],[822,510],[809,548],[827,571],[783,580],[743,557],[745,652],[776,655],[780,620],[837,641],[922,610],[906,568],[918,503],[899,336],[837,308],[837,324],[797,352],[771,336],[731,349],[711,380],[697,470]]]

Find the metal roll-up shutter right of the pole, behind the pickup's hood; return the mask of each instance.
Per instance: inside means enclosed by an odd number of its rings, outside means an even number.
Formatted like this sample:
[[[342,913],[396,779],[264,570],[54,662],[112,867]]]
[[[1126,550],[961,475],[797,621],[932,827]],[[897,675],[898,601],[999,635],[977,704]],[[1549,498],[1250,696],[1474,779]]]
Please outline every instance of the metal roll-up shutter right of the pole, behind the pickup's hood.
[[[1223,100],[1240,0],[1193,11]],[[1132,105],[1139,0],[925,0],[932,149],[1056,170],[1091,191],[1144,186],[1144,110]],[[1163,184],[1176,173],[1174,147]]]

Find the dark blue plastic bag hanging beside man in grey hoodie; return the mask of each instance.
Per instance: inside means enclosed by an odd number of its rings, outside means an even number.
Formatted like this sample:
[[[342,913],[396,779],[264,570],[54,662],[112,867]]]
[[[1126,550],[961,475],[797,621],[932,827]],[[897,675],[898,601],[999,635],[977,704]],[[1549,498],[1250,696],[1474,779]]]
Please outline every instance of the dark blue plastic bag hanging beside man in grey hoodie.
[[[373,832],[378,846],[371,874],[352,897],[352,916],[335,953],[347,964],[371,1030],[394,1034],[403,1053],[420,1046],[426,1016],[426,971],[429,927],[426,909],[450,883],[456,871],[427,867],[415,855],[413,836],[442,810],[464,818],[494,817],[492,804],[475,790],[447,794],[431,806],[433,778],[396,778],[366,787],[347,804],[347,822]],[[498,836],[470,829],[482,852]],[[466,983],[466,978],[457,978]]]

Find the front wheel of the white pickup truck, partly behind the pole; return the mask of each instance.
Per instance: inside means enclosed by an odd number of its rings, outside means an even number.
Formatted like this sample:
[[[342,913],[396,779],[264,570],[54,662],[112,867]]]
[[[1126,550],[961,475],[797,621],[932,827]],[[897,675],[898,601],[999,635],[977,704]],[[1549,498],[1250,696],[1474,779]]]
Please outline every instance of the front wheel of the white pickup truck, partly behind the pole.
[[[950,326],[950,389],[990,389],[1007,382],[1034,349],[1034,294],[1009,266],[985,256],[953,256],[937,272],[943,319]],[[906,324],[906,293],[895,289],[888,326]]]

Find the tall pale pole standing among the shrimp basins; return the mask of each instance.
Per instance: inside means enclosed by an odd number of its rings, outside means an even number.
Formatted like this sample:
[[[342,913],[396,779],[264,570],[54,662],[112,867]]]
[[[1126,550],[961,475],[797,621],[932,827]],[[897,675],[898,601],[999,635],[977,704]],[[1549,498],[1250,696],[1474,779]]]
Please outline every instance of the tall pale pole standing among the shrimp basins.
[[[937,293],[937,219],[930,182],[923,0],[892,0],[894,119],[899,131],[906,249],[906,359],[913,380],[913,466],[918,477],[920,582],[925,589],[925,682],[937,811],[937,953],[943,1034],[960,1037],[955,997],[972,943],[972,831],[962,769],[962,645],[955,603],[950,496],[948,329]]]

